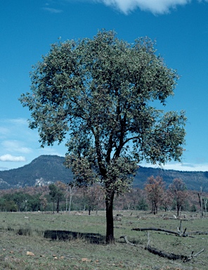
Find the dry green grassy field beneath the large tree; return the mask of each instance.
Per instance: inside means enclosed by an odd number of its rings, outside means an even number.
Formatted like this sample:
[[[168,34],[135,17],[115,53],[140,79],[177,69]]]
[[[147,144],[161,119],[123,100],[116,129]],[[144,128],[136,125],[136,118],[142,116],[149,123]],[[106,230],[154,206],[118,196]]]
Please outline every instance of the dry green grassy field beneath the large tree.
[[[105,212],[0,212],[0,269],[155,269],[207,270],[207,235],[178,237],[150,231],[150,245],[165,252],[190,255],[205,248],[190,262],[153,255],[139,245],[146,245],[148,232],[133,228],[157,227],[176,231],[178,219],[164,220],[172,213],[115,212],[115,245],[105,245]],[[208,231],[207,219],[187,213],[182,221],[187,231]],[[120,236],[138,246],[127,245]],[[32,252],[32,253],[29,253]]]

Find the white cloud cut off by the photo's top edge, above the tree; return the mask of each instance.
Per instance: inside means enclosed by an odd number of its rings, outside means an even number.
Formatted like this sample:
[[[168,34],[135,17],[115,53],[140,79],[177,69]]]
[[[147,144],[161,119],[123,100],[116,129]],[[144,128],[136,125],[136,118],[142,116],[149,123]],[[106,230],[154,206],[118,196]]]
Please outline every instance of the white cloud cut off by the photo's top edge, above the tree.
[[[154,14],[168,13],[171,8],[190,3],[191,0],[94,0],[106,6],[117,8],[122,13],[128,14],[136,8],[150,11]],[[208,1],[208,0],[207,0]]]

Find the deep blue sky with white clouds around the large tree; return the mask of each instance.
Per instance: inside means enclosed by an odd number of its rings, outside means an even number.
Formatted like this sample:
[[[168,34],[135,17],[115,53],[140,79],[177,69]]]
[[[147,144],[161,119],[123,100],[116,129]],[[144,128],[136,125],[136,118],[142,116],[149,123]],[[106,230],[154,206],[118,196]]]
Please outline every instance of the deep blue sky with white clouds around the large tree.
[[[30,112],[18,98],[30,91],[32,65],[59,37],[93,37],[105,28],[129,42],[155,39],[165,63],[178,70],[181,79],[166,109],[186,110],[186,151],[183,162],[164,168],[208,171],[207,0],[2,0],[0,25],[1,170],[39,155],[65,155],[64,143],[40,148],[37,131],[27,125]]]

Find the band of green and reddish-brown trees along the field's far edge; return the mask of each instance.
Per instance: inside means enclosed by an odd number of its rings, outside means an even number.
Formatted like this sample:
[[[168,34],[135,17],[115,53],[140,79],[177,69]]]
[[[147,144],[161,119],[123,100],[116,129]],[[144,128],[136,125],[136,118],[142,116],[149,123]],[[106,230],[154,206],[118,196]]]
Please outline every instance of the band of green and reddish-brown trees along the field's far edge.
[[[158,210],[207,212],[207,193],[188,191],[181,179],[174,179],[166,188],[160,176],[150,176],[144,189],[132,188],[115,198],[115,210]],[[102,186],[76,186],[57,181],[48,186],[26,187],[0,191],[0,210],[5,212],[69,212],[105,210],[105,191]]]

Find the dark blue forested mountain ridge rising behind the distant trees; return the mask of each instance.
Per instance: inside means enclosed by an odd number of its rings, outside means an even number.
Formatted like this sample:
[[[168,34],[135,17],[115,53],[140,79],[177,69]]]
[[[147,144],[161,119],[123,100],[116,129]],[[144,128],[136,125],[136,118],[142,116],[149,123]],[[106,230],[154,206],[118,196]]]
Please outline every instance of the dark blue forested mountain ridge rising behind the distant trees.
[[[28,165],[18,169],[0,171],[0,189],[20,188],[50,184],[56,181],[69,183],[73,179],[71,169],[67,169],[63,162],[65,158],[58,155],[41,155]],[[143,188],[150,176],[162,176],[167,186],[175,178],[183,180],[190,190],[199,190],[200,186],[208,184],[208,172],[181,172],[166,169],[139,167],[134,177],[133,186]]]

